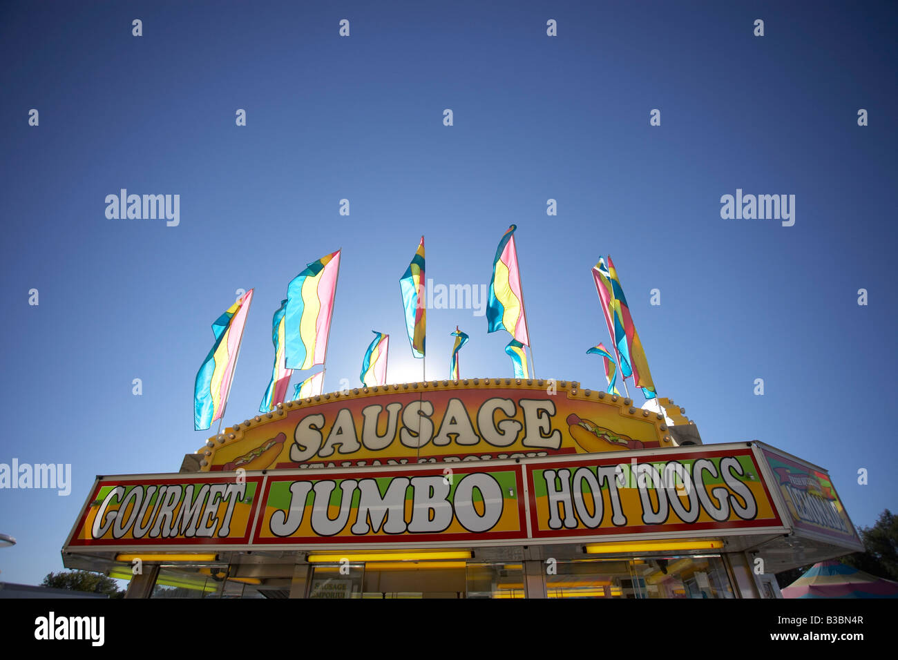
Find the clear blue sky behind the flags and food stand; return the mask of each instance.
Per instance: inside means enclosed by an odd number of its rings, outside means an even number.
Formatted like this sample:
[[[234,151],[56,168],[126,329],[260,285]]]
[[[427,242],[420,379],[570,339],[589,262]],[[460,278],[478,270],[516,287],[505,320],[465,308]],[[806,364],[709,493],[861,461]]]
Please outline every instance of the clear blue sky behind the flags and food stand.
[[[343,249],[326,387],[357,383],[371,330],[412,380],[418,238],[437,284],[486,284],[512,223],[541,377],[603,383],[589,268],[611,253],[658,390],[705,442],[815,462],[873,524],[898,508],[895,32],[874,2],[4,3],[0,462],[71,463],[73,485],[0,491],[0,579],[61,568],[94,475],[178,471],[211,435],[193,383],[236,289],[256,296],[226,423],[256,414],[305,263]],[[180,225],[107,219],[122,188],[180,194]],[[721,219],[737,188],[794,194],[796,224]],[[427,320],[428,377],[456,324],[463,377],[511,375],[485,317]]]

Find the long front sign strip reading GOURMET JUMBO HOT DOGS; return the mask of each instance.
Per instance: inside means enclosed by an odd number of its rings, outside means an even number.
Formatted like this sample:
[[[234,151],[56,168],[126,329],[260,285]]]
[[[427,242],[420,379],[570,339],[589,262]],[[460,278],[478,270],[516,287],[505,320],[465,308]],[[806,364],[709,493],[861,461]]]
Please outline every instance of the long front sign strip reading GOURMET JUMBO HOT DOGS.
[[[66,548],[510,545],[788,532],[746,444],[99,480]],[[790,474],[797,480],[796,466]],[[817,473],[820,488],[831,488]],[[769,479],[769,477],[767,477]],[[808,483],[806,481],[802,483]],[[806,511],[809,505],[799,507]]]

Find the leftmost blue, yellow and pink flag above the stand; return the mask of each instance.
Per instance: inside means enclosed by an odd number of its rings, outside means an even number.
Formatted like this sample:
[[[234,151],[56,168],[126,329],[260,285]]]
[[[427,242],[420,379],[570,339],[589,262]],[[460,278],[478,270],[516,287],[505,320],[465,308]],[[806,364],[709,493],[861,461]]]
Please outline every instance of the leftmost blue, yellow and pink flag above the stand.
[[[237,362],[237,348],[246,325],[246,314],[250,311],[252,291],[250,289],[243,294],[212,324],[216,341],[199,367],[193,387],[193,427],[198,431],[211,427],[225,410],[233,367]]]

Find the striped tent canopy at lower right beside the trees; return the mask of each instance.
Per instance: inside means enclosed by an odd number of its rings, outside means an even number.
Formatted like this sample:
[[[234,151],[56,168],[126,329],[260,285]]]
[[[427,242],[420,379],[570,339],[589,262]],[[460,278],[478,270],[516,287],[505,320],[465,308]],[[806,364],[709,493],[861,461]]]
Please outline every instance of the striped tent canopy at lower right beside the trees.
[[[782,594],[783,598],[898,598],[898,582],[830,559],[808,568]]]

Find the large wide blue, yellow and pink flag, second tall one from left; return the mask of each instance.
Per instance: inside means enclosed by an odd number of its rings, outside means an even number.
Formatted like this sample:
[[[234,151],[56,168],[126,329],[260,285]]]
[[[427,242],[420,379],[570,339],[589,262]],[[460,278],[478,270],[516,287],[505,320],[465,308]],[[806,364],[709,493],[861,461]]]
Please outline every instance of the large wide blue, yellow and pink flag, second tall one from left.
[[[339,272],[339,250],[313,261],[286,287],[286,368],[323,365]]]

